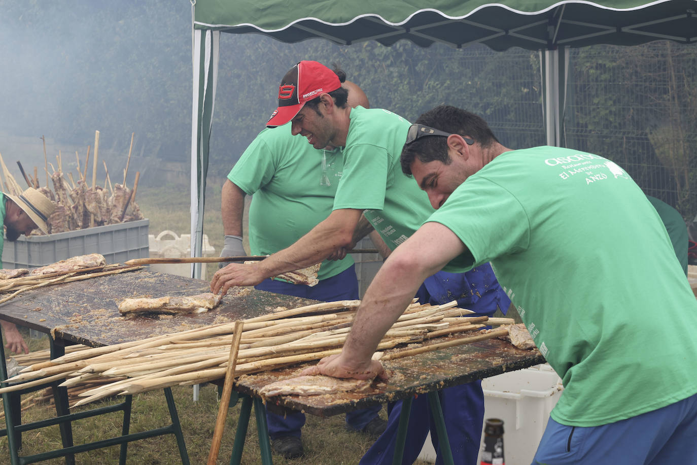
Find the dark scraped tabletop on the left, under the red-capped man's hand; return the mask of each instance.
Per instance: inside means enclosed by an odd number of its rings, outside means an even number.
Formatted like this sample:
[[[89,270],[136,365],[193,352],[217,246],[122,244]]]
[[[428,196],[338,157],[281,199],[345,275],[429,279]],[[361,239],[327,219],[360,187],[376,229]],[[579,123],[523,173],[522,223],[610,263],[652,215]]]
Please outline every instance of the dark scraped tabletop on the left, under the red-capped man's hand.
[[[256,317],[276,307],[316,303],[233,288],[220,305],[206,313],[122,317],[118,312],[118,303],[128,297],[188,296],[209,291],[206,281],[139,270],[27,291],[0,305],[0,318],[70,342],[98,346]]]

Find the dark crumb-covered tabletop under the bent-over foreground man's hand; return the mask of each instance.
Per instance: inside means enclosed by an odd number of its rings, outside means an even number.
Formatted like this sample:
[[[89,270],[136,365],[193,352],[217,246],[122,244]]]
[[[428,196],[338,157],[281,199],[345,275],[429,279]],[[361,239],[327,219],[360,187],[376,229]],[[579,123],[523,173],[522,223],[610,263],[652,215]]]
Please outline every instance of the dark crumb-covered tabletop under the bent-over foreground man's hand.
[[[439,338],[433,342],[444,340],[447,338]],[[371,389],[360,394],[344,392],[331,395],[274,396],[266,399],[266,406],[276,413],[283,413],[284,409],[294,409],[328,417],[372,404],[382,404],[469,383],[544,361],[537,349],[526,351],[516,349],[503,340],[484,340],[418,356],[387,360],[383,365],[390,372],[388,382],[373,383]],[[272,372],[240,376],[236,382],[236,390],[259,397],[259,389],[263,386],[279,379],[297,376],[302,369],[310,365],[313,364],[306,363]]]

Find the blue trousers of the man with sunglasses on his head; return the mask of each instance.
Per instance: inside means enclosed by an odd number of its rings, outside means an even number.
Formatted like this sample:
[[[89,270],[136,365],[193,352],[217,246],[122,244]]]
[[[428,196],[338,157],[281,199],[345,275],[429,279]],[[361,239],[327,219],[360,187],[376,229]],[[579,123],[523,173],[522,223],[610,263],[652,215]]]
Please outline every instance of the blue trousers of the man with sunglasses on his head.
[[[595,427],[567,426],[550,418],[533,459],[533,465],[539,464],[695,465],[697,394]]]

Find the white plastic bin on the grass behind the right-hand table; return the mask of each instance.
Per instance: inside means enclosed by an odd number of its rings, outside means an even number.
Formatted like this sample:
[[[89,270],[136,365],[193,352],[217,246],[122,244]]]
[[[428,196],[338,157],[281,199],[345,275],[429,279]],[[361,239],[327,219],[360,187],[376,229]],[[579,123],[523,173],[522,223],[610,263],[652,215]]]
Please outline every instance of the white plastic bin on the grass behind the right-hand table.
[[[562,393],[562,383],[549,363],[491,376],[482,380],[484,420],[503,420],[506,465],[530,465],[547,426],[549,412]],[[483,436],[483,434],[482,434]],[[480,451],[482,445],[480,445]],[[436,451],[427,437],[419,459],[436,463]],[[477,457],[477,464],[481,462]]]

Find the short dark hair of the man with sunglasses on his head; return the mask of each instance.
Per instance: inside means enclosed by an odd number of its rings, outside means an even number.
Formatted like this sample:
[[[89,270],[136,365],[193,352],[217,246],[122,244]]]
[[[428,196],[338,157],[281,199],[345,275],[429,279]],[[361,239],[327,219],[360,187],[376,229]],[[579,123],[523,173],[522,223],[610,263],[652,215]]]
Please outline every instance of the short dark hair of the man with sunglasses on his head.
[[[482,147],[491,146],[498,142],[493,135],[487,121],[464,109],[450,105],[440,105],[429,109],[415,121],[418,124],[430,126],[434,129],[470,137]],[[432,161],[450,165],[452,160],[447,154],[447,137],[428,136],[422,137],[401,149],[401,171],[411,176],[411,164],[418,158],[422,163]]]

